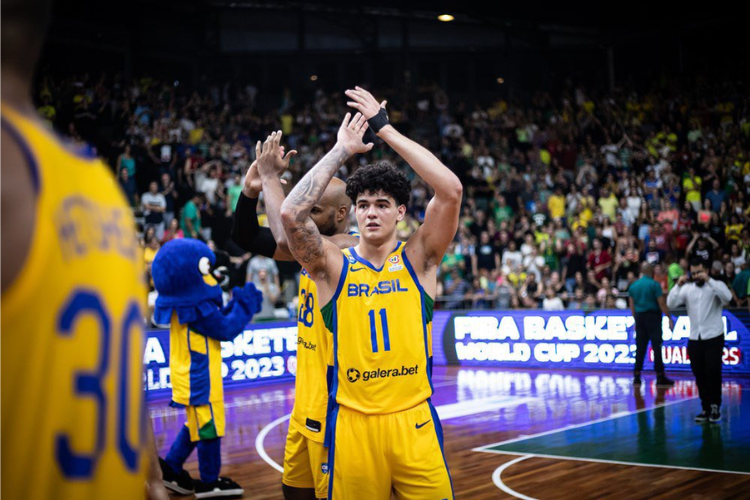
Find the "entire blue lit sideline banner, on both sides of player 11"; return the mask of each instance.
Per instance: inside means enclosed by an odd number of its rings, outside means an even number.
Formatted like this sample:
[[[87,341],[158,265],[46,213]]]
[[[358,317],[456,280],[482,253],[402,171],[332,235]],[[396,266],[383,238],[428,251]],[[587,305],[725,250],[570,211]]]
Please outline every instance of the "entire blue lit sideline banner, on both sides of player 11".
[[[670,331],[662,318],[664,364],[667,370],[689,371],[690,320],[683,311],[675,323]],[[724,372],[750,375],[750,314],[726,310],[724,325]],[[632,370],[634,339],[633,317],[623,310],[435,311],[432,322],[435,365]],[[221,344],[224,387],[293,380],[297,342],[294,321],[248,325],[232,342]],[[646,370],[653,359],[649,345]],[[168,330],[148,332],[143,361],[149,397],[169,396]]]

